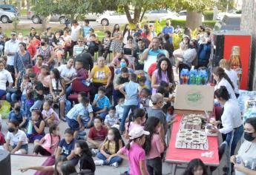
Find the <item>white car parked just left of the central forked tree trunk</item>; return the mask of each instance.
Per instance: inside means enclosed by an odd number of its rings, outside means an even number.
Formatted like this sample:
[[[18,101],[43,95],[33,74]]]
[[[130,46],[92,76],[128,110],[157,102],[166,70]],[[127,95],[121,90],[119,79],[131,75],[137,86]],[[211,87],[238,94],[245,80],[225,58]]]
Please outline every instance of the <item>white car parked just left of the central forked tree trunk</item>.
[[[134,17],[134,13],[131,12],[131,18]],[[128,24],[128,19],[125,13],[108,13],[99,16],[96,19],[96,22],[102,25],[109,25],[109,24]]]

